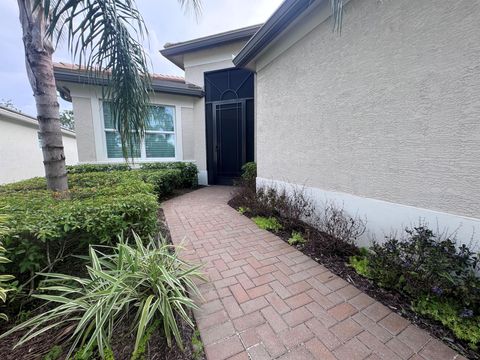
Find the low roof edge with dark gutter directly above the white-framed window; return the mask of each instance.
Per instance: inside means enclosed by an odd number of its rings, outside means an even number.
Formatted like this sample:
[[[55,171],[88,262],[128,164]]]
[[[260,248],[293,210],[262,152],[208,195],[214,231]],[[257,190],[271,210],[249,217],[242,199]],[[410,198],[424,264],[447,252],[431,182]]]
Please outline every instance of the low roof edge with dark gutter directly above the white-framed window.
[[[106,85],[106,77],[93,77],[85,68],[79,65],[54,63],[53,71],[56,81],[75,84]],[[183,77],[162,74],[150,74],[152,89],[155,92],[203,97],[201,87],[187,83]]]

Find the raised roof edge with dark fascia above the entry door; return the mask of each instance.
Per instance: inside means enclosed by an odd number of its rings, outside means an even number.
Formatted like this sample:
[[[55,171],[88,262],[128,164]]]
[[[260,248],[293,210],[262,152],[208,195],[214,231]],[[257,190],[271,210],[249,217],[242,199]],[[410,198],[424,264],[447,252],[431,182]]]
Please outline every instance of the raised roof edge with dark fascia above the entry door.
[[[234,43],[236,41],[248,40],[262,27],[262,24],[247,26],[241,29],[230,30],[218,34],[204,36],[201,38],[178,42],[174,44],[167,43],[160,53],[175,65],[184,68],[183,54],[210,49],[216,46]]]

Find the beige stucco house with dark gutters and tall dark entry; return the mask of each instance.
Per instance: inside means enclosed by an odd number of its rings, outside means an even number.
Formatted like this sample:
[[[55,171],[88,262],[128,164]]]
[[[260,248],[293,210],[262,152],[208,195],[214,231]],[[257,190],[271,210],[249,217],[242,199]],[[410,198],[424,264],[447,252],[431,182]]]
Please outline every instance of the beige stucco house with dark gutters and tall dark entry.
[[[185,70],[171,87],[198,91],[152,96],[175,109],[171,158],[196,161],[204,184],[255,159],[259,185],[305,186],[320,207],[366,218],[365,238],[423,220],[468,242],[480,233],[479,18],[477,2],[350,0],[338,34],[329,1],[286,0],[262,26],[166,46]],[[98,92],[60,75],[88,123],[79,160],[114,160]]]

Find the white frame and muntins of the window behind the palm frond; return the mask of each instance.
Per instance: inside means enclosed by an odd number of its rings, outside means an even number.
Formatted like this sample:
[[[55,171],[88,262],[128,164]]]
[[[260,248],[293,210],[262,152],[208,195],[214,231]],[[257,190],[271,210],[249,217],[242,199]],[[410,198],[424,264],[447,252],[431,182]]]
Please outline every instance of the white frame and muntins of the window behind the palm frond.
[[[103,142],[103,151],[105,154],[105,159],[107,162],[124,162],[123,158],[110,158],[108,157],[108,149],[107,149],[107,132],[117,132],[116,129],[105,128],[105,119],[103,117],[103,106],[105,102],[108,100],[100,100],[100,119],[101,119],[101,128],[102,128],[102,142]],[[174,157],[147,157],[147,148],[145,146],[145,138],[140,140],[140,157],[133,158],[136,162],[168,162],[168,161],[178,161],[181,158],[181,151],[180,149],[180,142],[178,132],[181,131],[180,129],[180,114],[179,114],[179,106],[173,104],[157,104],[157,103],[150,103],[149,106],[164,106],[164,107],[171,107],[173,108],[173,131],[161,131],[161,130],[145,130],[146,134],[171,134],[174,136],[175,140],[175,156]]]

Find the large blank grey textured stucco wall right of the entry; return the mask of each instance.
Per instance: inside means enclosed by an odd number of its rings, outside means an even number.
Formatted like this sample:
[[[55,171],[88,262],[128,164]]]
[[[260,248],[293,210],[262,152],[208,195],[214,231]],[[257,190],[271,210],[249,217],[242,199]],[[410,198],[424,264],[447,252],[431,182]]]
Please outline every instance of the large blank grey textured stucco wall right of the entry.
[[[351,0],[257,73],[258,175],[480,218],[480,2]]]

